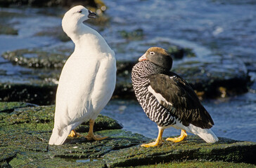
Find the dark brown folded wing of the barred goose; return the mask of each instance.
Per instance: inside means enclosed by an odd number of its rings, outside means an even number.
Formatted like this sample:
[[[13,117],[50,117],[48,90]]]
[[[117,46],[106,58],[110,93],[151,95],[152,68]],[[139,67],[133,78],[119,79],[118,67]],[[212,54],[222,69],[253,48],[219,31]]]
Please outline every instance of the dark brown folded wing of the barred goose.
[[[210,114],[186,80],[172,72],[168,75],[154,74],[148,78],[152,89],[167,101],[159,103],[177,116],[183,125],[188,126],[191,123],[201,128],[211,128],[214,125]]]

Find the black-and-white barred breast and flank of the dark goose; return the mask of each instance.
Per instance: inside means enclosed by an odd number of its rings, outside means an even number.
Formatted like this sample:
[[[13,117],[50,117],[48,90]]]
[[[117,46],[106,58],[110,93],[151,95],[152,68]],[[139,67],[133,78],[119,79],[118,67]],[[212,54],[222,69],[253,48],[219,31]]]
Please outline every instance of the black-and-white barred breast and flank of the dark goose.
[[[167,127],[175,123],[174,116],[159,104],[158,99],[148,91],[148,87],[150,87],[148,76],[154,73],[162,73],[162,71],[164,69],[149,61],[139,62],[132,69],[132,85],[136,98],[148,118],[161,127]]]

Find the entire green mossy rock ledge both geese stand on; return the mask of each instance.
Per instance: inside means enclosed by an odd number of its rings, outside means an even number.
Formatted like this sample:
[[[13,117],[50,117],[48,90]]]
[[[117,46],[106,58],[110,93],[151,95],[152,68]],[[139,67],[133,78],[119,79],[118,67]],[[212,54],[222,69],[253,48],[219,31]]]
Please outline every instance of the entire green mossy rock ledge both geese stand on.
[[[54,106],[0,102],[0,167],[255,167],[256,143],[219,138],[206,144],[188,136],[180,143],[165,142],[155,148],[140,144],[153,141],[122,130],[112,118],[99,116],[96,134],[103,141],[68,138],[49,146]],[[79,127],[82,135],[87,124]]]

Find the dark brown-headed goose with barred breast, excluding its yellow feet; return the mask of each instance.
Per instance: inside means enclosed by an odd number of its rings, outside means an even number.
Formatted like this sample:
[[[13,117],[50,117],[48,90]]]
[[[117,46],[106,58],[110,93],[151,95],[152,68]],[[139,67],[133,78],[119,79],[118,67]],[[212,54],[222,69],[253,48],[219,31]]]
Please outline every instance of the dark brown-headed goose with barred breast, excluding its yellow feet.
[[[172,126],[185,134],[197,134],[208,143],[218,141],[210,130],[213,120],[192,87],[169,71],[169,53],[162,48],[149,48],[139,61],[132,69],[134,92],[143,111],[160,131]]]

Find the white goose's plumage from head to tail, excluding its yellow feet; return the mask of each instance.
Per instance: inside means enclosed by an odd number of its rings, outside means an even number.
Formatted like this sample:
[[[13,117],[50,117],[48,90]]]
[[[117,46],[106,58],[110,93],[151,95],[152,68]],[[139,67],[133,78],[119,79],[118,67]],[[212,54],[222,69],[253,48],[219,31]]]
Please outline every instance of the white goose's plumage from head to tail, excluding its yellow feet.
[[[93,127],[115,89],[115,52],[83,23],[94,16],[87,8],[75,6],[63,17],[63,30],[75,43],[75,50],[60,74],[51,145],[63,144],[71,130],[87,120],[92,120]]]

